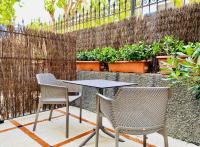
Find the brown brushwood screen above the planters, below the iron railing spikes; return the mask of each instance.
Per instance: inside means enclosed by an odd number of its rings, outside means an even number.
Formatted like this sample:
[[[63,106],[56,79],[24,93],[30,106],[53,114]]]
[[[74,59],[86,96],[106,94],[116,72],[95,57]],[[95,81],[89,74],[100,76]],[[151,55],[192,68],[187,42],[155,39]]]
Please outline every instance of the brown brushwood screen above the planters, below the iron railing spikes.
[[[151,43],[165,35],[186,42],[199,41],[199,30],[200,4],[193,4],[71,33],[76,35],[77,50],[89,50],[106,46],[120,48],[142,40]]]

